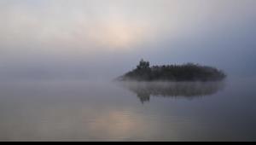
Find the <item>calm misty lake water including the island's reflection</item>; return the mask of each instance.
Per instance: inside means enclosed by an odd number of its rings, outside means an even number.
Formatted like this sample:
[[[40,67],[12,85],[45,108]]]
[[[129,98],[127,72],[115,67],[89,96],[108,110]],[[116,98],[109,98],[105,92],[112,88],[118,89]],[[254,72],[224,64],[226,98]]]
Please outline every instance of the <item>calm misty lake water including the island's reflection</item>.
[[[0,141],[256,141],[256,79],[0,84]]]

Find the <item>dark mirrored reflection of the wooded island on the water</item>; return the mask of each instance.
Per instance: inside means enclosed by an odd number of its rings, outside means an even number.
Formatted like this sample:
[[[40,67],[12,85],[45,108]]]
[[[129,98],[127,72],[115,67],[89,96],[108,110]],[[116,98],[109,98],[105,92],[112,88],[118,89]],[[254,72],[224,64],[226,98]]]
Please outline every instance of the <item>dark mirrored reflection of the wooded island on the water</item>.
[[[121,84],[136,93],[141,102],[149,102],[150,96],[193,99],[214,95],[224,89],[224,82],[123,82]]]

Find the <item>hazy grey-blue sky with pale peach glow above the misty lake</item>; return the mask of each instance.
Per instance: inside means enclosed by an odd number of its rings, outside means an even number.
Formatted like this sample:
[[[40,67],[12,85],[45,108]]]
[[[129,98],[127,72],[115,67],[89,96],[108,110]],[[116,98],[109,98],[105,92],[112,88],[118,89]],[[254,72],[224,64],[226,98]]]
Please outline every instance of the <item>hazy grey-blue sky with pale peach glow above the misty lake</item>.
[[[256,74],[255,0],[1,0],[0,80],[112,79],[194,62]]]

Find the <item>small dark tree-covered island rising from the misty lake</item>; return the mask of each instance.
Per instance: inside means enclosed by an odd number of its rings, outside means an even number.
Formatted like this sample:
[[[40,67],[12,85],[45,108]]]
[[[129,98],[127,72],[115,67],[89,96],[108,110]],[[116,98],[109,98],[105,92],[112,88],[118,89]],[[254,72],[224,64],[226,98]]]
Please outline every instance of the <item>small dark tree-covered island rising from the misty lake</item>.
[[[149,61],[140,61],[137,68],[118,78],[119,81],[210,82],[221,81],[226,74],[215,67],[187,63],[150,67]]]

